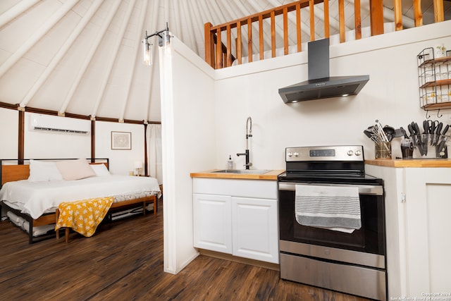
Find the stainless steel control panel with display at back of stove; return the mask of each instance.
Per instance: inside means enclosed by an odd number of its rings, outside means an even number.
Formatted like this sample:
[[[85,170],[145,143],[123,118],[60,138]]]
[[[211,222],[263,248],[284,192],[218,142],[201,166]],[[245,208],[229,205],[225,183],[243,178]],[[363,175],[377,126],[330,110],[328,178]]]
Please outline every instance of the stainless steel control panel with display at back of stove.
[[[287,147],[285,161],[364,161],[362,145]]]

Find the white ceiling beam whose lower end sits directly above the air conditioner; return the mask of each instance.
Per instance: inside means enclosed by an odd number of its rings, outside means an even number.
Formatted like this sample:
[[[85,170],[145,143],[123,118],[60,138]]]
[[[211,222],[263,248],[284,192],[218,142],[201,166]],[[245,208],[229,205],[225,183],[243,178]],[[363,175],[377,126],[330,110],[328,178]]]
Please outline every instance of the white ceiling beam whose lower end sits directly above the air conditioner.
[[[73,80],[72,85],[70,86],[70,89],[68,91],[68,94],[66,95],[66,98],[64,99],[64,102],[63,102],[63,105],[61,106],[60,111],[63,111],[63,112],[66,111],[66,108],[67,108],[69,102],[72,100],[73,94],[75,94],[75,90],[77,90],[78,85],[80,85],[80,81],[82,80],[82,77],[85,74],[87,67],[89,66],[89,63],[91,63],[92,58],[93,58],[95,52],[97,51],[97,48],[99,47],[101,39],[104,37],[106,30],[108,30],[108,27],[111,23],[111,20],[113,19],[113,16],[116,14],[116,11],[118,11],[119,4],[121,4],[121,0],[116,0],[113,3],[113,5],[108,4],[108,6],[110,7],[108,15],[106,16],[104,23],[102,23],[102,26],[99,29],[99,32],[97,32],[97,37],[94,39],[94,41],[92,41],[91,48],[89,49],[88,53],[86,54],[85,61],[83,61],[82,66],[80,67],[80,70],[78,70],[75,80]],[[92,116],[92,117],[95,117],[95,116]]]

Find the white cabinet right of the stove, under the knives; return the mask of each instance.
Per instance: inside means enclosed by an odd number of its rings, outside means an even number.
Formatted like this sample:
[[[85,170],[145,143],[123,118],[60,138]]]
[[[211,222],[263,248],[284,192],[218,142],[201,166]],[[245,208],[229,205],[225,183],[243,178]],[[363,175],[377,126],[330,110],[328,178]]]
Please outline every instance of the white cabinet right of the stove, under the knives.
[[[450,293],[451,168],[366,173],[384,179],[388,297]]]

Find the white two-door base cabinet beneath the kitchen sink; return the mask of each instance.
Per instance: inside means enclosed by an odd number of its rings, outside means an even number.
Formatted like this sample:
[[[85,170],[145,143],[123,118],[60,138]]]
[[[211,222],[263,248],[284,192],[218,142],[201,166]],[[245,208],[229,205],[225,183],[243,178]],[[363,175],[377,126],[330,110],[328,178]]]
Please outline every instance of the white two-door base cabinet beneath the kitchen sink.
[[[276,180],[193,178],[194,247],[278,264]]]

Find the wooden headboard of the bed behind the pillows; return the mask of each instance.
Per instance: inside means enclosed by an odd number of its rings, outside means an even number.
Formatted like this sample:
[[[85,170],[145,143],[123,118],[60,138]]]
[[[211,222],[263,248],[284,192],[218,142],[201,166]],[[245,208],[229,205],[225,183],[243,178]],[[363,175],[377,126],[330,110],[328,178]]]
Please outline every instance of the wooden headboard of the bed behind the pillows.
[[[43,161],[63,161],[73,159],[37,159]],[[106,168],[109,168],[109,159],[87,159],[91,161],[89,164],[104,164]],[[0,160],[0,187],[6,182],[15,180],[26,180],[30,176],[30,159],[24,159],[24,164],[18,164],[17,159],[13,160]]]

